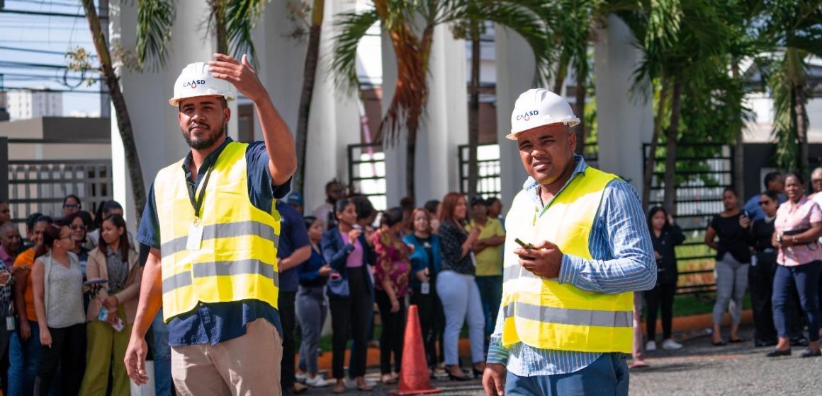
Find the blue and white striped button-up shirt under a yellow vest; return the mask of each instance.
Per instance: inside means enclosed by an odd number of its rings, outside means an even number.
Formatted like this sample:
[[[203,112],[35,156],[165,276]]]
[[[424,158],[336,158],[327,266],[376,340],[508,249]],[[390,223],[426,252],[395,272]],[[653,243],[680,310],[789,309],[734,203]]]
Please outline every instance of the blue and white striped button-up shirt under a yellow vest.
[[[588,167],[582,157],[575,156],[574,160],[574,172],[559,193]],[[525,182],[523,189],[531,193],[538,207],[545,206],[540,198],[539,184],[533,178]],[[596,258],[585,260],[563,254],[558,281],[607,294],[653,289],[657,281],[657,264],[653,259],[653,246],[640,197],[635,189],[622,180],[607,184],[594,221],[589,248],[591,256]],[[506,365],[508,371],[516,376],[567,374],[589,366],[602,355],[533,348],[523,343],[505,348],[502,346],[503,307],[500,308],[487,362]]]

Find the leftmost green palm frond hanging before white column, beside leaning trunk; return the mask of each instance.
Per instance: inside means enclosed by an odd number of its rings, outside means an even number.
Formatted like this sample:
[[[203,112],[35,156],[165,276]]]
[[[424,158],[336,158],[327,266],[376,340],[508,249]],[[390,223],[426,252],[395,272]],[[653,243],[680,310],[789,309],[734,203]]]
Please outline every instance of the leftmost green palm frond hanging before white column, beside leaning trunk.
[[[174,23],[173,0],[140,0],[137,2],[137,61],[149,61],[152,70],[165,66],[171,27]]]

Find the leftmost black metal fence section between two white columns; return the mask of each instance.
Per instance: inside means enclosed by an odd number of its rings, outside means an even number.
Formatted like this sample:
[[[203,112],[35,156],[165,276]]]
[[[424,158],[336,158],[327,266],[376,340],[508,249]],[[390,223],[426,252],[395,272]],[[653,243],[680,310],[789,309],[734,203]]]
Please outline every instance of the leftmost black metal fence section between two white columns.
[[[349,144],[349,186],[365,195],[376,210],[387,208],[386,154],[380,143]]]

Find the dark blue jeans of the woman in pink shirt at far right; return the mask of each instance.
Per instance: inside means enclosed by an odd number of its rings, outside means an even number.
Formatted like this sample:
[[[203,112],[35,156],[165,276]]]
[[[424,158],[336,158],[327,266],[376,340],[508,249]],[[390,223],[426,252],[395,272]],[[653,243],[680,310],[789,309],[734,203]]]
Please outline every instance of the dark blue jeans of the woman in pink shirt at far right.
[[[808,339],[820,339],[819,284],[822,262],[809,262],[801,266],[777,266],[774,275],[774,325],[779,337],[790,336],[786,315],[787,301],[792,298],[793,288],[799,292],[799,302],[808,323]]]

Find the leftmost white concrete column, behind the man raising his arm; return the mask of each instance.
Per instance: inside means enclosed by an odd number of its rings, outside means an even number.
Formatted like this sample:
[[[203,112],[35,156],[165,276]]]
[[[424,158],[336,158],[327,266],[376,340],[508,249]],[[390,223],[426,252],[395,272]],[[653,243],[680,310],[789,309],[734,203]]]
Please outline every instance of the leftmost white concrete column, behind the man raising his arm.
[[[168,99],[173,95],[173,84],[182,68],[193,61],[209,60],[216,48],[215,39],[205,33],[208,15],[205,2],[188,4],[185,12],[177,12],[167,63],[159,71],[118,70],[140,156],[146,193],[157,171],[177,161],[188,150],[180,132],[178,112],[169,106]],[[135,48],[136,2],[112,2],[110,17],[112,39],[119,40],[125,48]],[[131,164],[125,163],[113,110],[112,115],[114,199],[122,203],[129,219],[128,226],[135,230],[134,214],[142,211],[142,208],[134,207],[132,202],[127,170],[127,166]],[[236,121],[229,129],[236,133]]]

